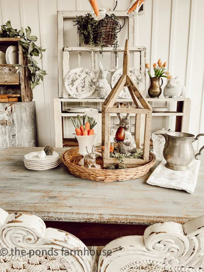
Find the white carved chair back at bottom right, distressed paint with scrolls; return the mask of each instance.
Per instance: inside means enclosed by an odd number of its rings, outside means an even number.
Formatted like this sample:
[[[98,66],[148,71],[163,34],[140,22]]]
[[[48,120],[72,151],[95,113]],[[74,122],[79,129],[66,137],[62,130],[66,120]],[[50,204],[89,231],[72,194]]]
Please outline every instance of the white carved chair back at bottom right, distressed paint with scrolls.
[[[125,236],[104,248],[98,272],[204,272],[204,216],[186,223],[156,223],[144,236]]]

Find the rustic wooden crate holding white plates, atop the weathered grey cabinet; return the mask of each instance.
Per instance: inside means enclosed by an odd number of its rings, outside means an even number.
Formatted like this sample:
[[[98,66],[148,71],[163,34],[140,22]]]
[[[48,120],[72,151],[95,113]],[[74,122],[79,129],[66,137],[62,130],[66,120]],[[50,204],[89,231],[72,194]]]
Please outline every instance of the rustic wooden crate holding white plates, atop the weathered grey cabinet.
[[[24,58],[19,38],[0,38],[0,50],[4,53],[10,45],[18,47],[18,64],[26,65],[27,59]],[[5,87],[5,92],[1,94],[20,94],[22,102],[32,101],[33,93],[29,80],[29,70],[21,68],[19,74],[16,73],[12,64],[0,64],[0,87]],[[1,89],[0,88],[0,89]]]

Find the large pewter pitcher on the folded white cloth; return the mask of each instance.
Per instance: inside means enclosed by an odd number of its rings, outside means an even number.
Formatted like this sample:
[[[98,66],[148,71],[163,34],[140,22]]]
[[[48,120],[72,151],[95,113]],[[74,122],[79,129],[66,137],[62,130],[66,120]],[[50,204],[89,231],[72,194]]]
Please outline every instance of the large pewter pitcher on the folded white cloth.
[[[162,134],[165,138],[165,145],[163,150],[164,159],[167,161],[165,166],[172,170],[186,171],[189,170],[189,164],[194,158],[198,159],[201,155],[204,146],[199,153],[195,155],[193,142],[198,140],[204,134],[198,134],[195,137],[193,134],[183,132],[169,132]]]

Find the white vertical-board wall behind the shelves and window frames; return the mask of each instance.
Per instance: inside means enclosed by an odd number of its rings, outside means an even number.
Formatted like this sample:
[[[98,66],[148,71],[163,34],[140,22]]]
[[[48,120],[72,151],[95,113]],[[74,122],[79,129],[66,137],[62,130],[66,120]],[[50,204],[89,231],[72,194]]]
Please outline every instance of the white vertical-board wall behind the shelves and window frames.
[[[106,7],[115,0],[103,0]],[[118,0],[126,10],[130,0]],[[34,89],[39,145],[54,146],[53,98],[58,97],[57,10],[88,10],[87,0],[0,0],[0,23],[11,20],[14,28],[29,25],[38,44],[47,48],[39,63],[48,75]],[[204,1],[146,0],[145,14],[136,20],[136,44],[147,48],[147,62],[167,60],[173,76],[185,82],[192,101],[189,132],[204,132]],[[164,84],[166,80],[164,80]],[[147,77],[147,89],[149,79]],[[160,120],[157,119],[158,122]],[[158,124],[158,127],[160,125]],[[199,145],[204,143],[200,139]]]

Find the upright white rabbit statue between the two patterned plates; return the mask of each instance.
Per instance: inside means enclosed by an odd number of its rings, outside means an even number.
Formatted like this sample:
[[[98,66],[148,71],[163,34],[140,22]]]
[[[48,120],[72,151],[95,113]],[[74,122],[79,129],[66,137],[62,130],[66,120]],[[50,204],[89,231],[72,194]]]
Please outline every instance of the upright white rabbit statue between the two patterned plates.
[[[111,92],[111,86],[109,85],[106,77],[108,75],[108,71],[103,70],[102,63],[99,61],[99,76],[96,82],[96,91],[98,91],[97,98],[106,99],[106,97]]]

